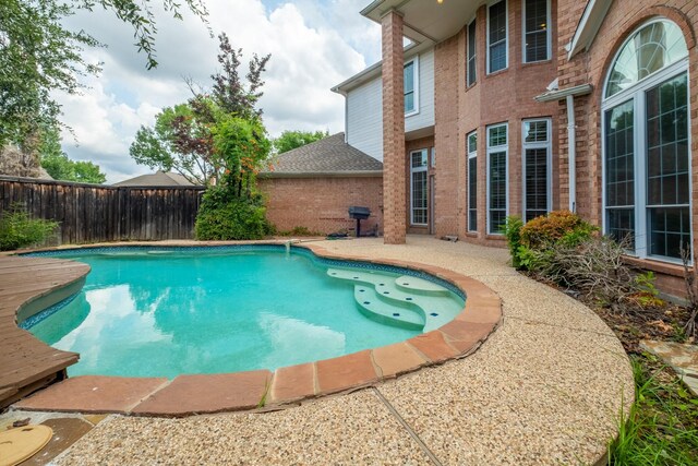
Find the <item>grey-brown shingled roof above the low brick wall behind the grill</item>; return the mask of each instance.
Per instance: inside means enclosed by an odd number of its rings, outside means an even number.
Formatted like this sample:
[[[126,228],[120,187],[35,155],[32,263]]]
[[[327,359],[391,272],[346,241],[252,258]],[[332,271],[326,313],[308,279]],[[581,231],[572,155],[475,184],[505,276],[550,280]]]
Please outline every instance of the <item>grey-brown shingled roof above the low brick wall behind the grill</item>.
[[[266,177],[378,175],[383,164],[345,142],[345,133],[279,154]]]

